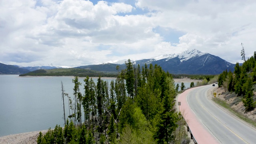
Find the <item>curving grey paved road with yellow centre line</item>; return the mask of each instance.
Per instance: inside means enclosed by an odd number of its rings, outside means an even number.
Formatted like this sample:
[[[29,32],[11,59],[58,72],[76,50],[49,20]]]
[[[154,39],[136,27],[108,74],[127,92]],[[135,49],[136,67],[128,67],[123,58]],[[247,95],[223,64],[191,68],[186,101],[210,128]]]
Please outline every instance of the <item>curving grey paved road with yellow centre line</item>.
[[[206,131],[219,143],[255,144],[256,130],[214,104],[209,98],[209,96],[211,96],[211,92],[209,91],[211,88],[213,88],[213,86],[208,85],[188,90],[186,100],[191,110],[200,121],[200,124],[202,124],[203,127],[207,129]],[[205,133],[200,132],[196,140],[204,137],[204,134]]]

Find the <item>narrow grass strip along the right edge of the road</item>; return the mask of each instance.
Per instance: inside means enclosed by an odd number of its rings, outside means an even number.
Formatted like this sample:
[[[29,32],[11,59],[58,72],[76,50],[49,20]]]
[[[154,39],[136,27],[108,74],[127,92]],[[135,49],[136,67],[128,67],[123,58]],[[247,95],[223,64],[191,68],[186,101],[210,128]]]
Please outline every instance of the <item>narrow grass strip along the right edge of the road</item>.
[[[254,120],[251,120],[251,119],[249,119],[249,118],[246,118],[246,116],[240,114],[239,112],[236,112],[236,111],[233,110],[233,109],[231,108],[231,106],[230,106],[228,103],[226,103],[224,100],[221,100],[221,99],[219,99],[219,98],[215,98],[215,99],[214,99],[214,102],[216,102],[218,105],[220,105],[220,106],[226,108],[227,110],[229,110],[230,112],[232,112],[233,114],[235,114],[235,115],[236,115],[238,118],[240,118],[241,120],[244,120],[245,122],[247,122],[247,123],[253,125],[254,127],[256,127],[256,122],[255,122]]]

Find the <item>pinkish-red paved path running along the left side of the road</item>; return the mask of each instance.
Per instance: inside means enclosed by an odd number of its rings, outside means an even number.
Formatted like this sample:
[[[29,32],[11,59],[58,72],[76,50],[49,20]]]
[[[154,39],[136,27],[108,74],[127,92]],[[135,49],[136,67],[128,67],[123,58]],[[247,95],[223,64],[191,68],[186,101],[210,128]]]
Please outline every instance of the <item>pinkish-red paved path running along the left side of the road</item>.
[[[198,120],[188,105],[186,98],[188,93],[193,89],[194,88],[190,88],[178,96],[178,102],[181,102],[180,112],[183,112],[184,114],[182,115],[184,116],[185,120],[188,120],[188,126],[198,144],[219,144],[210,131],[202,124],[200,120]]]

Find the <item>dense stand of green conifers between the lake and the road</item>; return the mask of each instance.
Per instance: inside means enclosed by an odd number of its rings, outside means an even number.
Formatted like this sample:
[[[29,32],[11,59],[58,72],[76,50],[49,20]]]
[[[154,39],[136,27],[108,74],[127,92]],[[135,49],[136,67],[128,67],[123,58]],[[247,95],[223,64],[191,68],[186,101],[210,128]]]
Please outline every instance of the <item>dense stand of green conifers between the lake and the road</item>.
[[[73,94],[62,84],[64,128],[39,133],[38,144],[181,144],[189,143],[184,120],[176,111],[177,91],[171,74],[158,65],[133,65],[119,70],[110,84],[101,77],[76,76]],[[192,84],[194,86],[194,83]],[[81,93],[84,89],[84,93]],[[68,98],[68,101],[65,99]]]

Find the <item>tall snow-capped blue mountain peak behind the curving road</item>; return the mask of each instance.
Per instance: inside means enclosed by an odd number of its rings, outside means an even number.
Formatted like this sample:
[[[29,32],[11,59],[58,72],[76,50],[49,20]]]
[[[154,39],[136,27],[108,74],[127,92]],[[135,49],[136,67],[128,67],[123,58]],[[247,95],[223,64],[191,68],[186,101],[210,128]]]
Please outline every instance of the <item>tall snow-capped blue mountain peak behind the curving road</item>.
[[[163,70],[171,74],[220,74],[224,70],[233,71],[235,66],[218,56],[196,49],[156,60],[152,64],[160,65]]]

